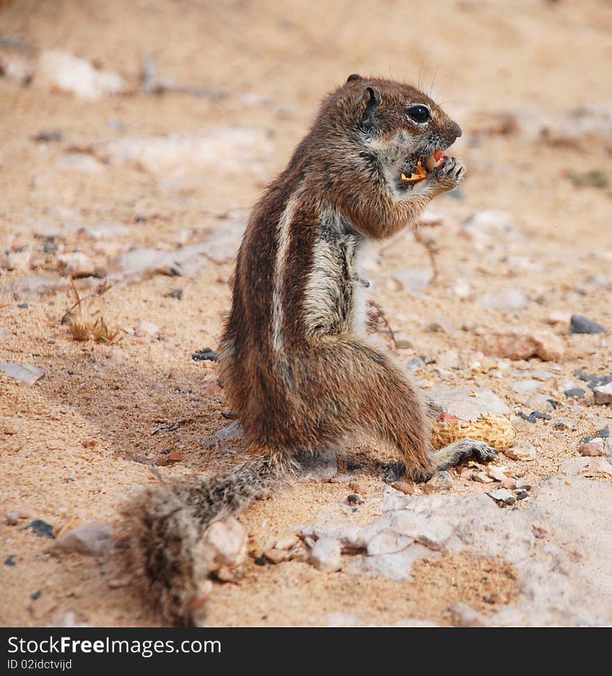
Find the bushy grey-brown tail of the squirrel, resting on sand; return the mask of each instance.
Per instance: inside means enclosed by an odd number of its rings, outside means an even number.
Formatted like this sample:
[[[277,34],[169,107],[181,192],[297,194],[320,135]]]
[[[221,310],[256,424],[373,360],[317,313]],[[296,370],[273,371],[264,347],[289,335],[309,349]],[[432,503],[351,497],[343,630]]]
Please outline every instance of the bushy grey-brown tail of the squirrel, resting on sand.
[[[124,510],[134,577],[143,595],[174,625],[190,625],[205,577],[194,556],[204,530],[266,497],[296,473],[287,453],[248,460],[220,476],[196,476],[145,490]]]

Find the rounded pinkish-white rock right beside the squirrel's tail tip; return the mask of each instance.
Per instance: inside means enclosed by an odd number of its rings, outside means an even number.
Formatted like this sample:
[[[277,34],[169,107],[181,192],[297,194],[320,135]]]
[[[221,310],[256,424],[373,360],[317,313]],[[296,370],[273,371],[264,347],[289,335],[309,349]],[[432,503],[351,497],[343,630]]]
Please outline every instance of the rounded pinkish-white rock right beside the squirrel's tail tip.
[[[244,526],[234,518],[224,519],[204,531],[194,556],[210,575],[224,582],[236,582],[243,576],[247,545]]]

